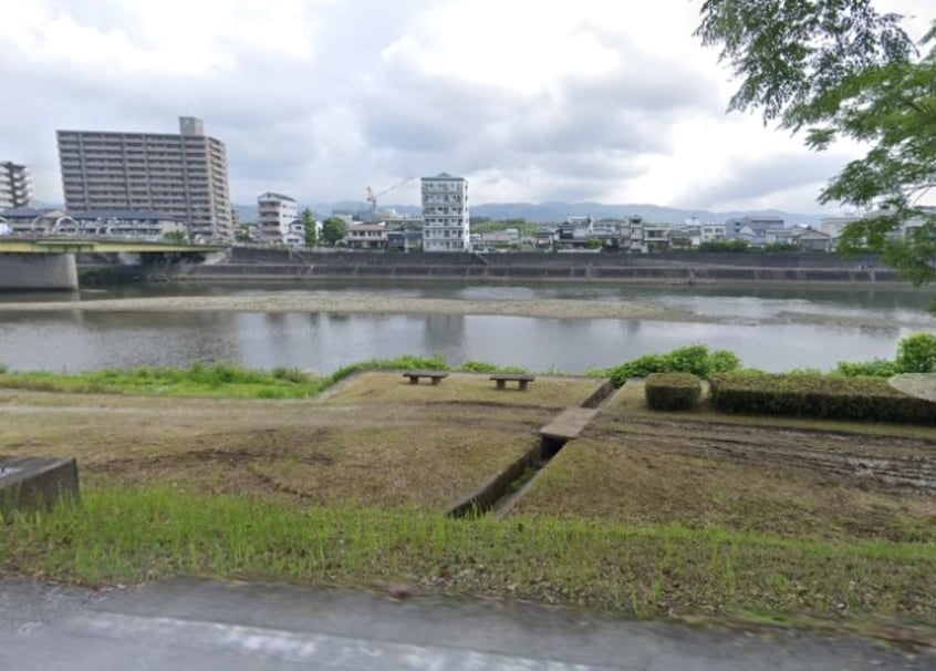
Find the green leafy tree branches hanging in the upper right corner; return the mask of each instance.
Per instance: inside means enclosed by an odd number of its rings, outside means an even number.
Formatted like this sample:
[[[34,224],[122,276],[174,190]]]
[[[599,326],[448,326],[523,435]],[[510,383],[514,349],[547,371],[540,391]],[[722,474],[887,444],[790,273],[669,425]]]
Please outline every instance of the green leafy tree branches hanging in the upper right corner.
[[[881,251],[915,286],[936,280],[936,210],[922,203],[936,187],[936,22],[917,45],[871,0],[706,0],[701,16],[696,34],[741,80],[729,110],[759,110],[815,151],[869,147],[819,197],[876,208],[840,249]]]

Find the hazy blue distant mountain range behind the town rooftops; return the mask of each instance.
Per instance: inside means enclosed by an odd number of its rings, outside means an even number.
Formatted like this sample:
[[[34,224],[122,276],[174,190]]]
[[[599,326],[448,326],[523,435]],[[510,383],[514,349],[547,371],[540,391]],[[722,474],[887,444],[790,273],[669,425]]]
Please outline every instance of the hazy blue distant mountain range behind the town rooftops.
[[[304,206],[302,206],[304,207]],[[339,203],[320,203],[309,205],[315,216],[330,216],[333,211],[358,211],[367,209],[366,203],[342,200]],[[241,221],[257,220],[256,205],[235,205]],[[416,205],[382,205],[381,209],[395,209],[402,215],[418,217],[423,210]],[[559,223],[569,216],[591,215],[594,219],[625,218],[630,216],[643,217],[653,224],[682,224],[684,219],[697,218],[703,221],[721,223],[731,217],[753,215],[770,215],[783,219],[787,226],[803,224],[819,227],[823,215],[804,215],[782,211],[778,209],[742,210],[742,211],[709,211],[705,209],[679,209],[676,207],[661,207],[646,204],[609,205],[604,203],[485,203],[471,206],[471,216],[488,217],[489,219],[527,219],[538,223]]]

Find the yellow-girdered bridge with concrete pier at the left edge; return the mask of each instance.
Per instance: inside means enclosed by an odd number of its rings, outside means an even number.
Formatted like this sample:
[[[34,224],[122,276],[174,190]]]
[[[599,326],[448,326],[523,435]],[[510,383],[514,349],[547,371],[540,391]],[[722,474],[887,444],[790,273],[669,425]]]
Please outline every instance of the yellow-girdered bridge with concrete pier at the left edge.
[[[168,240],[132,238],[0,238],[0,291],[66,289],[79,287],[76,254],[135,255],[145,262],[201,261],[225,251],[223,245],[188,245]]]

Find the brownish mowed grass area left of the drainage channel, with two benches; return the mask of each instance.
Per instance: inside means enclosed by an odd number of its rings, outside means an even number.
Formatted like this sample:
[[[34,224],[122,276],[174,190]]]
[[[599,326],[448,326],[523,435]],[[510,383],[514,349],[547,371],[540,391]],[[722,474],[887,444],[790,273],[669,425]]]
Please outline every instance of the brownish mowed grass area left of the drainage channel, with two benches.
[[[539,444],[587,379],[498,391],[487,375],[439,385],[364,373],[321,401],[0,392],[0,454],[75,456],[86,486],[443,512]]]

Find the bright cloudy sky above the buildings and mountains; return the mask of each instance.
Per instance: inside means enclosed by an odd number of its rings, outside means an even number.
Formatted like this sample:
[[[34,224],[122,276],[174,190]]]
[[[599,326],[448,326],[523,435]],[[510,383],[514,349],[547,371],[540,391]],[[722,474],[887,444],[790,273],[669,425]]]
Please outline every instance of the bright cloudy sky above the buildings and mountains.
[[[881,0],[922,34],[932,0]],[[231,199],[646,203],[819,213],[861,152],[727,113],[701,0],[0,0],[0,161],[60,203],[55,130],[227,145]],[[402,183],[402,184],[401,184]],[[395,187],[395,188],[392,188]]]

